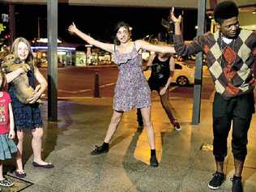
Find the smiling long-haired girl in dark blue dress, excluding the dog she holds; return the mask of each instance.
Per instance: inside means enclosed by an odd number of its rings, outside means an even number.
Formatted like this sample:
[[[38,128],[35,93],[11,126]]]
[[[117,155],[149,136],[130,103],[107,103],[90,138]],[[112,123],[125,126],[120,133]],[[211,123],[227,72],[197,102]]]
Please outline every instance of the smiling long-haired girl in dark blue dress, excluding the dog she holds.
[[[23,37],[17,38],[11,46],[11,54],[15,56],[17,63],[27,63],[27,67],[23,69],[15,70],[9,74],[6,74],[6,81],[10,83],[9,93],[11,95],[13,113],[15,118],[15,129],[17,130],[18,137],[18,152],[16,156],[15,175],[17,177],[26,177],[26,173],[23,170],[22,153],[23,153],[23,137],[24,129],[32,130],[32,150],[33,150],[33,166],[37,168],[51,169],[53,164],[46,163],[41,159],[41,143],[43,136],[43,122],[41,119],[41,113],[39,104],[36,102],[47,87],[47,82],[36,65],[33,63],[32,49],[26,39]],[[27,68],[27,69],[24,69]],[[32,98],[28,99],[27,103],[22,103],[17,98],[18,92],[15,92],[14,80],[19,75],[27,71],[29,85],[35,89]],[[22,72],[21,72],[22,71]],[[39,83],[35,86],[35,80]]]

